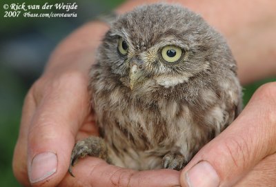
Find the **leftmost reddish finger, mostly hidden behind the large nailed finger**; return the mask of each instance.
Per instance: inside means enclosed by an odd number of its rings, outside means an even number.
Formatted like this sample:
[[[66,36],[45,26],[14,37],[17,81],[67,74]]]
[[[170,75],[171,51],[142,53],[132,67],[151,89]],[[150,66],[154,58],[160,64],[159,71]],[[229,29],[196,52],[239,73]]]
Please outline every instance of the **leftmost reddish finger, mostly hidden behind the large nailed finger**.
[[[27,141],[28,129],[35,108],[36,104],[32,91],[29,91],[23,105],[19,137],[14,148],[12,160],[12,170],[14,176],[23,186],[30,186],[27,173]]]

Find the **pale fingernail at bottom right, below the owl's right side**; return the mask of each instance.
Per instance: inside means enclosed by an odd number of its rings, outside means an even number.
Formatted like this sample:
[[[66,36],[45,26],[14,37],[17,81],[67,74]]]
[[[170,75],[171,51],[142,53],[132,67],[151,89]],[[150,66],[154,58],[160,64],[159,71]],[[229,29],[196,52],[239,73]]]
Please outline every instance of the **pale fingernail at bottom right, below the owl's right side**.
[[[186,181],[189,187],[217,187],[219,175],[208,161],[201,161],[188,170]]]

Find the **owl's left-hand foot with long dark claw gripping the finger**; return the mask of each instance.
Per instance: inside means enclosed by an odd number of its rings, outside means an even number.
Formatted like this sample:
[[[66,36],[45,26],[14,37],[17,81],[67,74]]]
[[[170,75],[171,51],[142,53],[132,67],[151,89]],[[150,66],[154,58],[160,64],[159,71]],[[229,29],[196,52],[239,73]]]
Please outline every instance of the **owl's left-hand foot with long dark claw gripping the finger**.
[[[68,169],[68,172],[72,175],[72,177],[75,177],[72,174],[72,166],[75,166],[79,158],[86,156],[99,157],[108,161],[108,163],[111,162],[108,157],[108,147],[106,146],[106,142],[100,137],[88,137],[78,141],[72,150],[70,166]]]

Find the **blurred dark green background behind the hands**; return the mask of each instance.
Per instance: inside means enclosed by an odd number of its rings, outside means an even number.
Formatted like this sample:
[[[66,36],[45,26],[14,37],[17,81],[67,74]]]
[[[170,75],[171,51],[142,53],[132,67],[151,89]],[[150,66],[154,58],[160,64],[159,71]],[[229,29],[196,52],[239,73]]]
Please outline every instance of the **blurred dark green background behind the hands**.
[[[3,5],[23,3],[26,5],[48,2],[74,3],[74,1],[57,0],[14,0],[1,2],[0,15],[0,186],[20,186],[12,174],[12,153],[17,140],[21,118],[21,108],[26,92],[35,79],[41,75],[51,51],[72,30],[92,20],[98,14],[110,12],[124,0],[77,1],[77,17],[70,18],[5,18]],[[76,1],[75,1],[76,2]],[[32,12],[36,12],[32,10]],[[38,13],[47,12],[38,10]],[[61,11],[58,11],[61,12]],[[244,86],[244,104],[253,92],[268,81],[257,81]]]

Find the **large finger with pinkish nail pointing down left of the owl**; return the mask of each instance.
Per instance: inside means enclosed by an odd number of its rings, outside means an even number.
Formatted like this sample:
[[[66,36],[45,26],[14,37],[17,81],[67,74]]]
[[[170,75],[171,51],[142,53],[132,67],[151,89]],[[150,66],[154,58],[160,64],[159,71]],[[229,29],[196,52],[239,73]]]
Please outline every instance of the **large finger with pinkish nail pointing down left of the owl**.
[[[72,72],[44,89],[28,132],[28,177],[35,186],[56,186],[66,175],[75,136],[89,112],[87,85],[86,77]]]

